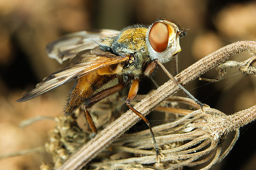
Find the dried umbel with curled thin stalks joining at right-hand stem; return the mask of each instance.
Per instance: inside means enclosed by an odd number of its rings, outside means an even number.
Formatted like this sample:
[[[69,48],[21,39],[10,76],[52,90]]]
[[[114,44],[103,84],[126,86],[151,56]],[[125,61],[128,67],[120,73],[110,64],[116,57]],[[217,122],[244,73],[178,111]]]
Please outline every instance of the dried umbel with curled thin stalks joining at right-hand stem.
[[[194,111],[193,113],[190,113],[187,116],[190,116],[190,118],[192,118],[194,115],[197,115],[198,112],[200,112],[200,110]],[[161,150],[161,152],[165,155],[165,158],[162,161],[186,159],[186,161],[180,161],[180,163],[172,165],[170,167],[170,170],[176,169],[181,166],[195,166],[197,164],[202,164],[204,162],[209,161],[212,157],[214,157],[213,160],[210,162],[210,164],[208,164],[202,170],[210,169],[215,164],[218,164],[222,159],[224,159],[224,157],[227,156],[227,153],[229,153],[230,150],[233,148],[235,142],[237,141],[237,139],[239,137],[239,128],[237,128],[237,127],[244,125],[244,123],[241,124],[240,122],[245,121],[245,123],[248,123],[248,122],[252,122],[256,119],[256,105],[249,109],[246,109],[244,111],[239,111],[238,113],[235,113],[230,116],[226,116],[226,115],[222,114],[221,112],[219,112],[215,109],[212,109],[212,108],[205,108],[205,112],[207,114],[201,114],[201,116],[204,117],[204,119],[201,119],[201,120],[203,122],[204,122],[204,120],[207,120],[207,123],[204,126],[198,126],[198,127],[196,126],[196,128],[205,129],[205,132],[204,132],[205,134],[201,134],[201,133],[198,134],[198,132],[200,132],[202,130],[197,130],[197,131],[193,130],[193,133],[195,133],[195,135],[197,134],[198,137],[195,136],[195,138],[193,140],[191,140],[190,142],[185,143],[181,146],[171,148],[171,149]],[[211,113],[211,114],[208,114],[208,113]],[[198,117],[198,119],[196,119],[196,117]],[[195,122],[197,122],[197,120],[200,119],[200,116],[196,116],[196,117],[195,117]],[[240,118],[241,118],[241,120],[240,120]],[[244,120],[244,119],[246,119],[246,120]],[[184,120],[184,122],[190,122],[189,120],[190,119]],[[236,123],[234,123],[233,126],[230,125],[234,121]],[[179,122],[179,120],[177,120],[177,122]],[[193,124],[195,124],[195,122]],[[224,123],[222,123],[222,122],[224,122]],[[159,125],[157,127],[161,127],[161,126],[162,125]],[[222,155],[220,155],[221,148],[222,148],[221,136],[223,136],[223,134],[230,132],[231,130],[236,131],[234,139],[230,143],[228,148],[224,151],[224,153],[222,153]],[[222,133],[218,133],[219,131],[221,131]],[[186,134],[187,134],[187,136],[189,136],[189,132]],[[219,135],[219,137],[216,136],[216,134]],[[178,135],[183,135],[183,133],[178,133]],[[133,133],[132,136],[131,136],[131,138],[133,140],[129,141],[129,142],[134,143],[138,140],[138,135],[134,135],[134,133]],[[170,135],[169,140],[165,143],[166,144],[171,143],[173,140],[175,140],[175,138],[176,138],[175,136],[177,136],[177,133]],[[161,138],[164,138],[164,136],[157,136],[157,137],[160,137],[159,141]],[[148,142],[149,139],[150,138],[143,139],[143,141]],[[177,136],[177,139],[182,140],[183,137],[181,136],[180,138],[178,138],[178,136]],[[124,138],[124,136],[121,137],[120,142],[121,141],[122,142],[125,141],[124,143],[127,142],[127,140]],[[118,141],[115,141],[115,144],[117,144],[116,142],[118,142]],[[205,150],[201,150],[202,148],[206,147],[209,144],[210,144],[210,147],[208,147]],[[122,144],[120,144],[120,145],[122,145]],[[137,145],[135,145],[135,147],[136,146]],[[134,148],[124,147],[124,146],[115,146],[115,145],[112,146],[112,149],[114,149],[115,151],[118,151],[118,152],[129,152],[129,153],[154,155],[153,150],[151,150],[151,151],[140,150],[140,149],[134,149]],[[204,156],[206,154],[210,154],[210,155],[207,156],[203,160],[200,160],[197,162],[191,162],[191,161],[195,161],[199,157]],[[134,162],[136,162],[137,164],[145,164],[145,162],[147,164],[150,164],[150,163],[155,162],[155,158],[154,158],[154,156],[142,156],[139,158],[129,158],[129,159],[121,159],[121,160],[113,160],[113,161],[109,160],[109,161],[105,161],[105,162],[91,163],[90,166],[94,166],[94,167],[113,166],[115,164],[129,164],[129,163],[132,164]]]

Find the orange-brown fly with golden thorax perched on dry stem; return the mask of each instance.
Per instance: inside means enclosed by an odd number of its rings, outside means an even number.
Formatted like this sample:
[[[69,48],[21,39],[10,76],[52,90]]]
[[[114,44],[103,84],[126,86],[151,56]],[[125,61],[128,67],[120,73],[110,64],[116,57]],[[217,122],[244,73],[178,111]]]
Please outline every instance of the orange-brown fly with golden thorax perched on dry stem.
[[[98,33],[80,31],[68,34],[47,45],[46,52],[49,57],[57,59],[60,63],[67,59],[69,63],[44,78],[17,102],[25,102],[75,80],[64,112],[72,114],[83,105],[86,120],[95,135],[97,129],[87,108],[130,85],[125,104],[149,127],[159,161],[159,157],[163,155],[156,144],[150,122],[130,103],[138,92],[140,79],[150,77],[155,66],[160,65],[165,73],[201,108],[204,106],[186,91],[162,65],[181,51],[179,39],[184,36],[186,36],[185,31],[166,19],[157,20],[150,26],[128,26],[122,31],[105,29]],[[115,78],[118,78],[117,85],[98,92],[98,89]]]

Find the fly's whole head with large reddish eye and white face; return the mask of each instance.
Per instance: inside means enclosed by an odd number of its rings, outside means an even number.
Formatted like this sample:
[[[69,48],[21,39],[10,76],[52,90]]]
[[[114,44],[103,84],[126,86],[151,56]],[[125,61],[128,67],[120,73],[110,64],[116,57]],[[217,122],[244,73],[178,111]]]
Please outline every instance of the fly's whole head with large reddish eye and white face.
[[[169,20],[158,20],[149,26],[146,34],[147,50],[150,59],[158,59],[164,63],[181,51],[179,39],[186,35],[178,26]]]

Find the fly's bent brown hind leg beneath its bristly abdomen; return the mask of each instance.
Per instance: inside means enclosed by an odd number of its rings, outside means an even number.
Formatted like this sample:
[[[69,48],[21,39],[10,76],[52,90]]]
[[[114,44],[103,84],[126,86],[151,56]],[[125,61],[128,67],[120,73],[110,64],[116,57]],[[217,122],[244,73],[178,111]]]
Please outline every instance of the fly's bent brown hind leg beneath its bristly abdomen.
[[[112,86],[110,88],[107,88],[103,91],[98,92],[97,94],[93,95],[92,97],[89,97],[83,104],[83,110],[84,115],[86,117],[86,120],[89,124],[89,127],[92,129],[92,137],[94,137],[97,133],[97,128],[95,127],[95,124],[92,120],[92,116],[90,115],[89,111],[87,111],[87,108],[94,105],[95,103],[101,101],[102,99],[106,98],[107,96],[110,96],[112,94],[115,94],[118,91],[121,91],[124,88],[124,84],[118,84],[115,86]]]

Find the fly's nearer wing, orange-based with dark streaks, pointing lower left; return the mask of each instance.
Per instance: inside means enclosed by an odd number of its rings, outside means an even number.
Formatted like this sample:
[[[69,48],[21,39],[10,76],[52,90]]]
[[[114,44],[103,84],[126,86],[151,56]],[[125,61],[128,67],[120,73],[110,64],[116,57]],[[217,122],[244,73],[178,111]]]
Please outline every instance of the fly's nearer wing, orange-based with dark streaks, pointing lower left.
[[[106,52],[101,51],[101,54],[102,53]],[[93,54],[97,54],[97,51],[94,51]],[[24,94],[16,102],[25,102],[36,96],[44,94],[53,88],[66,84],[67,82],[70,82],[78,77],[89,74],[92,71],[96,71],[108,65],[125,62],[129,59],[128,56],[118,57],[109,53],[106,53],[105,56],[93,54],[91,53],[91,50],[79,52],[73,59],[70,60],[68,65],[44,78],[43,82],[38,83],[36,88]]]

